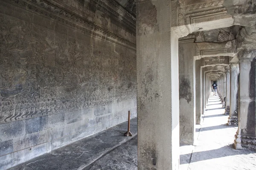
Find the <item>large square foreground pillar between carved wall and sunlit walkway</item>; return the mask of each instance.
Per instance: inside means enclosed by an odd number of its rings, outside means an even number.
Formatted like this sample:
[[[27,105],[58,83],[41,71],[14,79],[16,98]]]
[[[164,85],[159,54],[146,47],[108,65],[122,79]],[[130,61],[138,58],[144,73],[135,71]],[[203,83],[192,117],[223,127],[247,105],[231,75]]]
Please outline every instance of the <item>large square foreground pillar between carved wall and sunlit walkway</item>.
[[[136,3],[138,170],[179,169],[178,37],[170,17],[177,14],[171,7],[177,2]]]

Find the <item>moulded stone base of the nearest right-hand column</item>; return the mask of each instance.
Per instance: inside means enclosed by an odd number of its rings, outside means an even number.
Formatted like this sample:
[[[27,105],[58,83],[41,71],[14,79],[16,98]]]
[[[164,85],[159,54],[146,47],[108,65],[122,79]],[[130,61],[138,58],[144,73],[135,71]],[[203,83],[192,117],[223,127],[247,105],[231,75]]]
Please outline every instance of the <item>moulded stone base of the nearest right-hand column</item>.
[[[235,149],[250,149],[256,150],[256,136],[239,135],[236,132],[234,140]]]

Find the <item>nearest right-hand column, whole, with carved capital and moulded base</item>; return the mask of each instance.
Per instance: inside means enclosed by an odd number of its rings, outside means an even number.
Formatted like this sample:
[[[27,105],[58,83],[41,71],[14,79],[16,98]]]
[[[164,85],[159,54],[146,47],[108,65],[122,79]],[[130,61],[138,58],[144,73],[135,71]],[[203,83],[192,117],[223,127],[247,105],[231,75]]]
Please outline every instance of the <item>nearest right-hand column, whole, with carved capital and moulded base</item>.
[[[236,149],[256,150],[256,51],[239,55],[239,122],[235,135]]]

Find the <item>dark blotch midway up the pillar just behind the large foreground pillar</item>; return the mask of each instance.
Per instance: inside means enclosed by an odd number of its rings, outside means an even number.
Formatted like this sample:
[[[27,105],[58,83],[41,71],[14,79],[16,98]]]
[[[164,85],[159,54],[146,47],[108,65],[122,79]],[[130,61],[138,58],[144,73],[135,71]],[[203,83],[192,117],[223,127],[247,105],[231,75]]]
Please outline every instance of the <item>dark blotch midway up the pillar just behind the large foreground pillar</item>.
[[[179,93],[180,99],[186,99],[189,103],[192,100],[191,86],[189,79],[186,79],[185,76],[180,77],[180,85],[179,85]]]

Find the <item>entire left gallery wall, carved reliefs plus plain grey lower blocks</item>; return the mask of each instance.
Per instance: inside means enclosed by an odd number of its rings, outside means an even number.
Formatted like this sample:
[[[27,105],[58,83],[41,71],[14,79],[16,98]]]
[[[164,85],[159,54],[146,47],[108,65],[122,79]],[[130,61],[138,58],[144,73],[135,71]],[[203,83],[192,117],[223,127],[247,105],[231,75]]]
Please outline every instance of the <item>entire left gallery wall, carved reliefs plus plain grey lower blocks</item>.
[[[137,116],[136,22],[115,1],[0,11],[0,169]]]

